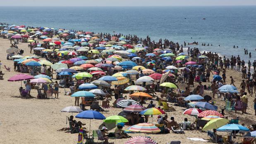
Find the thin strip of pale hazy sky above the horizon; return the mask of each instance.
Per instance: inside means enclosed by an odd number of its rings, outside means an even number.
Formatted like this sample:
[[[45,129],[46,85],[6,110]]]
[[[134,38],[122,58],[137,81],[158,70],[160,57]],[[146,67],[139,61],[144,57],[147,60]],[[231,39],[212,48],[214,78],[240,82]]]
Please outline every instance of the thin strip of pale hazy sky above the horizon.
[[[238,6],[256,0],[0,0],[0,6]]]

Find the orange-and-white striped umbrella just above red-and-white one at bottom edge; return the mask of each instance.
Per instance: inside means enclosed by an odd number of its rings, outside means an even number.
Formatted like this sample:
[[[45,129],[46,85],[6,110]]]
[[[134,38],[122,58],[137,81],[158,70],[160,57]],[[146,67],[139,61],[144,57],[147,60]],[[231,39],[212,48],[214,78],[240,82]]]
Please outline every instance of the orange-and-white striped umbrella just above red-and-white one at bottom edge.
[[[139,133],[158,133],[161,130],[152,123],[139,123],[136,125],[132,125],[126,131]]]

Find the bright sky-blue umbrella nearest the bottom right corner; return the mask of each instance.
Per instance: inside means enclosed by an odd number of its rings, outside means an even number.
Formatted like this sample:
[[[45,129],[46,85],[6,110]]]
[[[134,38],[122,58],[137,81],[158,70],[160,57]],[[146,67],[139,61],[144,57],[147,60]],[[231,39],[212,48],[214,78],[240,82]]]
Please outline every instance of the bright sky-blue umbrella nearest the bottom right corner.
[[[250,131],[247,127],[235,123],[223,125],[217,129],[219,132],[232,132],[233,130],[239,130],[240,132]]]

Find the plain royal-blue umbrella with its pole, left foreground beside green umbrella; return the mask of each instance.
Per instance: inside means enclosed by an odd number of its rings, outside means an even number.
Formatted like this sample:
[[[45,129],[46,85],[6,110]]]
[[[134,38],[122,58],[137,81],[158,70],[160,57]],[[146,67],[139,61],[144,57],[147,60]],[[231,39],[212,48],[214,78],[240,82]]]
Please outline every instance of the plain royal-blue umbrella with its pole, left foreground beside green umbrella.
[[[78,113],[76,118],[90,119],[90,127],[89,127],[89,135],[90,135],[90,132],[91,132],[91,120],[92,119],[104,120],[105,116],[103,116],[103,114],[101,114],[98,111],[88,110],[88,111],[83,111],[81,113]]]

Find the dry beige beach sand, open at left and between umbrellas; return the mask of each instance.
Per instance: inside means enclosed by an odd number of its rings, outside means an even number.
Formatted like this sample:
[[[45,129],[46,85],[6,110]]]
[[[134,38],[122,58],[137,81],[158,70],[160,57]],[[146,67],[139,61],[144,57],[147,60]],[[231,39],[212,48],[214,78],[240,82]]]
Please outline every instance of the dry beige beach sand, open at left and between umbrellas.
[[[32,99],[21,99],[19,97],[20,82],[7,82],[11,76],[17,74],[13,71],[13,61],[6,60],[5,51],[10,47],[10,41],[0,38],[0,60],[1,71],[5,73],[4,80],[0,80],[0,144],[76,144],[77,134],[70,134],[57,131],[62,127],[69,127],[66,125],[66,116],[70,116],[71,113],[61,113],[60,110],[66,106],[74,105],[74,98],[64,95],[64,89],[60,88],[59,99],[36,99],[36,90],[31,90]],[[32,55],[29,53],[28,43],[20,43],[18,47],[24,50],[24,56]],[[7,72],[4,65],[11,67],[11,72]],[[229,77],[233,76],[236,81],[235,85],[238,87],[242,81],[242,73],[237,71],[227,71],[227,83],[229,83]],[[203,85],[210,85],[209,83],[203,83]],[[178,84],[179,87],[184,89],[184,84]],[[23,84],[24,87],[24,84]],[[192,87],[191,87],[192,89]],[[206,94],[212,95],[210,91],[206,91]],[[246,123],[250,125],[256,123],[256,116],[254,116],[253,102],[254,97],[249,97],[248,113],[249,114],[235,114],[234,112],[227,112],[225,114],[231,118],[239,116],[240,123]],[[112,102],[111,102],[112,103]],[[148,103],[148,102],[147,102]],[[157,104],[157,103],[156,103]],[[172,104],[170,104],[172,105]],[[218,105],[218,111],[224,107],[224,102],[220,99],[216,100]],[[169,118],[174,116],[175,120],[180,123],[184,118],[193,120],[192,116],[183,115],[182,112],[185,108],[174,106],[177,111],[167,112]],[[86,107],[88,109],[88,107]],[[117,115],[121,109],[107,109],[107,112],[103,112],[105,117]],[[241,112],[240,112],[241,113]],[[73,114],[74,116],[76,113]],[[86,128],[89,130],[89,120],[78,119],[81,122],[86,123]],[[151,118],[149,122],[151,122]],[[102,123],[102,120],[92,120],[91,130],[98,129],[98,126]],[[154,116],[154,123],[156,123],[156,116]],[[124,127],[125,129],[126,127]],[[113,130],[112,130],[113,131]],[[110,131],[110,132],[112,132]],[[226,132],[220,134],[227,135]],[[139,134],[131,134],[132,136],[139,136]],[[141,134],[144,135],[144,134]],[[146,135],[151,137],[158,144],[166,144],[170,141],[181,141],[182,144],[203,144],[205,142],[196,142],[187,139],[187,137],[196,137],[209,139],[205,132],[198,130],[185,131],[185,134],[156,134]],[[237,137],[236,142],[240,142]],[[115,144],[124,144],[128,139],[110,139],[109,142]],[[211,142],[209,142],[211,143]]]

